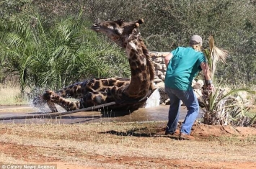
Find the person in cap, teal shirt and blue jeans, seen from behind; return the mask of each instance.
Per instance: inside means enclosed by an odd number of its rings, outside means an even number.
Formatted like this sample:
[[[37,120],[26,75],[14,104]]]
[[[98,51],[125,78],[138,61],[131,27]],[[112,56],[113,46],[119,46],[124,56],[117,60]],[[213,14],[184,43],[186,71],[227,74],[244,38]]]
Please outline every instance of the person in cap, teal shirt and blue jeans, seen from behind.
[[[213,90],[211,74],[202,50],[203,40],[199,35],[190,38],[190,47],[177,47],[164,58],[167,65],[165,76],[165,91],[170,99],[169,119],[165,134],[180,133],[180,140],[194,140],[190,135],[191,128],[199,113],[198,99],[195,96],[191,83],[200,70],[206,78],[208,89]],[[187,107],[187,115],[180,132],[177,123],[180,114],[180,101]]]

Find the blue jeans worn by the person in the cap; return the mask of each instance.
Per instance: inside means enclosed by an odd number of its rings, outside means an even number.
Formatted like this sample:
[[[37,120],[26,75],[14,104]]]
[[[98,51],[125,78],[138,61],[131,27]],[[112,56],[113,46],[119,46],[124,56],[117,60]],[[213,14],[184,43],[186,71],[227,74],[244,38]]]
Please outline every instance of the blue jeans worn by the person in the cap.
[[[180,132],[184,134],[190,134],[191,128],[193,127],[195,119],[198,117],[199,113],[198,99],[196,98],[194,91],[192,89],[181,91],[165,86],[165,92],[170,99],[169,117],[166,132],[174,133],[177,129],[180,115],[180,101],[182,101],[187,107],[187,115],[184,122],[182,122]]]

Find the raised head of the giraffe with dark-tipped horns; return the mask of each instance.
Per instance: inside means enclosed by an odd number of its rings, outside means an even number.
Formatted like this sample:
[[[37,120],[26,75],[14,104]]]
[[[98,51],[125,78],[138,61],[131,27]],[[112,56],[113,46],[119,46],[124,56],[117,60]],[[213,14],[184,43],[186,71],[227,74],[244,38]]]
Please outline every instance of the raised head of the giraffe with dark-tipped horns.
[[[112,41],[121,47],[125,47],[125,39],[131,35],[133,29],[139,27],[143,22],[143,19],[138,19],[133,22],[124,22],[123,19],[117,21],[104,21],[93,24],[92,29],[96,32],[104,33],[107,37],[110,37]]]

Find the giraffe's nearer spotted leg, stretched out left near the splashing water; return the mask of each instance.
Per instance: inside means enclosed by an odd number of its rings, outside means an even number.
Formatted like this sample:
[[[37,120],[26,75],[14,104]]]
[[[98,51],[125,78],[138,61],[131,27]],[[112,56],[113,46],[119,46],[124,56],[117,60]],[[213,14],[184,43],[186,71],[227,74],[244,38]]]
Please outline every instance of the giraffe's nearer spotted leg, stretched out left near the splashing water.
[[[59,96],[54,91],[45,91],[45,93],[43,93],[43,99],[47,102],[52,112],[57,111],[54,104],[62,106],[67,111],[79,109],[79,101],[69,101]]]

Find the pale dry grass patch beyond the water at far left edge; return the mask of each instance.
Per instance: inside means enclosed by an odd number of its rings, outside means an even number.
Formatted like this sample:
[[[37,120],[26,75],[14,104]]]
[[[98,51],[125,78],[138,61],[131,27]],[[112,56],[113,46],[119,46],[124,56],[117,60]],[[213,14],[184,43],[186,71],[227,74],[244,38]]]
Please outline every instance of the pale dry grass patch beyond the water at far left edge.
[[[26,96],[22,96],[19,85],[12,83],[0,83],[0,105],[28,104]]]

